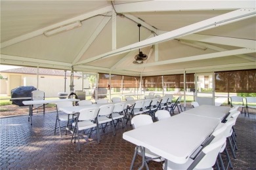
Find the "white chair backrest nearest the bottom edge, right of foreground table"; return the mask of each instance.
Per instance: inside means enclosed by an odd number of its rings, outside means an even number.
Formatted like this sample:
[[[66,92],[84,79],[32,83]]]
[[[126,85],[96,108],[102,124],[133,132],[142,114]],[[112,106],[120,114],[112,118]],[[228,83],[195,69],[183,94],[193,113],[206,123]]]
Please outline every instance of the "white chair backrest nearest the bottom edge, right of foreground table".
[[[200,158],[200,156],[198,156],[195,160],[197,161],[197,159],[200,159],[200,161],[196,165],[196,169],[207,169],[213,167],[213,165],[215,165],[219,151],[221,150],[221,147],[224,143],[226,143],[226,138],[221,137],[219,140],[205,146],[205,148],[203,148],[202,150],[203,154],[205,154],[203,158]]]

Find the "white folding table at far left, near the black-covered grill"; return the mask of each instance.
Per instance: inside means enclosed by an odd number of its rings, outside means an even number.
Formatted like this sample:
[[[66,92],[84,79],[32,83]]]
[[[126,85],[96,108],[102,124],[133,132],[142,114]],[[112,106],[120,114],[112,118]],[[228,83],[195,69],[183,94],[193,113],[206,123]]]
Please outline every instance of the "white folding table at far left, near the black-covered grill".
[[[33,105],[45,105],[49,103],[58,103],[60,101],[79,101],[79,99],[53,99],[53,100],[32,100],[32,101],[22,101],[24,105],[30,105],[28,121],[32,125],[32,116],[33,116]]]

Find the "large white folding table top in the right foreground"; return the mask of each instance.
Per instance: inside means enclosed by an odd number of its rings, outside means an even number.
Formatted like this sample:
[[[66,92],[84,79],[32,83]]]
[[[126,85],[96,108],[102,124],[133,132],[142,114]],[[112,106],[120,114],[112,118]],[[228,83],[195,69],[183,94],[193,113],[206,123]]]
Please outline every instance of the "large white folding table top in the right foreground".
[[[175,163],[185,163],[221,122],[216,118],[178,114],[123,133],[123,139],[148,148]]]

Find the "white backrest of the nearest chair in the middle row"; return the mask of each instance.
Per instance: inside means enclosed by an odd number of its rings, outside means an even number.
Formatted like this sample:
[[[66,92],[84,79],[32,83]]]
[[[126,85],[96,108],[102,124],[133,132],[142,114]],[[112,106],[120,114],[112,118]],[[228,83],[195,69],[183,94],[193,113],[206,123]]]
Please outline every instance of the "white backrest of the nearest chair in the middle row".
[[[78,120],[95,120],[98,115],[97,107],[90,107],[79,110]]]

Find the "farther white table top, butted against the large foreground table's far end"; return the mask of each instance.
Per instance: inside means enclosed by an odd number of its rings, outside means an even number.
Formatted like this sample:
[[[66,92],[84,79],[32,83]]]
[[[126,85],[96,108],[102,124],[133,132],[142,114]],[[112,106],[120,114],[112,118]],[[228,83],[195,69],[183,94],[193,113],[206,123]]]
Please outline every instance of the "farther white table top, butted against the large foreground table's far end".
[[[208,118],[217,118],[223,120],[223,118],[228,114],[230,107],[219,107],[213,105],[200,105],[193,109],[186,110],[181,114],[192,114],[195,116],[203,116]]]

